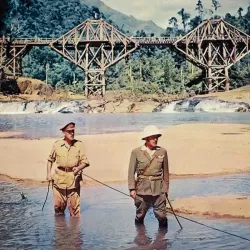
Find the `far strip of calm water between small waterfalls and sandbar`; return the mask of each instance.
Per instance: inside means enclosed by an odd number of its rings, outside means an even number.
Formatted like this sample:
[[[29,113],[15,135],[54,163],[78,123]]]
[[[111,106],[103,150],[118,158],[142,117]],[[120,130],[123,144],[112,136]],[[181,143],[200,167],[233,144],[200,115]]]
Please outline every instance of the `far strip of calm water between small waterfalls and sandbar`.
[[[59,137],[66,123],[77,124],[77,134],[141,131],[187,123],[250,124],[250,113],[134,113],[134,114],[18,114],[0,115],[0,131],[22,132],[25,138]]]

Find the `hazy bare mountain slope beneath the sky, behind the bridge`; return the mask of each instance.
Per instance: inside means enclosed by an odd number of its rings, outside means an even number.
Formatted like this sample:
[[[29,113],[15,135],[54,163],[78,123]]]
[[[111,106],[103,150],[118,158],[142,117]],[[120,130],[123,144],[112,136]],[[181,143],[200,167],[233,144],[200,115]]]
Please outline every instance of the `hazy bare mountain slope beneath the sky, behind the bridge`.
[[[80,2],[88,6],[97,7],[107,19],[112,20],[112,22],[117,24],[117,26],[125,32],[129,31],[135,34],[138,30],[144,30],[147,34],[154,33],[157,36],[164,32],[164,29],[157,26],[153,21],[143,21],[133,16],[127,16],[110,8],[100,0],[80,0]]]

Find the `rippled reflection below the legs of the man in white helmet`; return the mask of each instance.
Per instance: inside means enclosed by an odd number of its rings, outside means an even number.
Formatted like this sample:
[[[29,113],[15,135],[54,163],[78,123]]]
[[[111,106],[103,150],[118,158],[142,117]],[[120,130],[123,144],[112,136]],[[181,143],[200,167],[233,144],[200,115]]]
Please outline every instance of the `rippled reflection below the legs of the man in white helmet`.
[[[168,232],[168,227],[159,228],[154,240],[148,236],[145,225],[136,225],[136,232],[137,234],[134,239],[134,243],[137,245],[137,247],[128,248],[127,250],[167,249],[168,241],[165,236]]]

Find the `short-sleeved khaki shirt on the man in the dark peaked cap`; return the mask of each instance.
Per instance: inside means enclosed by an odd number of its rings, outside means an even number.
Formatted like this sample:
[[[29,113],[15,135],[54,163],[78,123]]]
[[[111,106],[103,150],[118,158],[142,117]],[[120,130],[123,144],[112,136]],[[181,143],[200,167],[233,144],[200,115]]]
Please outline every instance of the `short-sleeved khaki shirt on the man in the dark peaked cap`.
[[[82,163],[89,166],[84,144],[78,140],[74,140],[72,145],[68,145],[63,139],[56,141],[52,147],[48,161],[56,162],[57,167],[71,169]],[[65,172],[56,168],[53,181],[58,188],[72,189],[80,186],[81,176],[75,176],[73,172]]]

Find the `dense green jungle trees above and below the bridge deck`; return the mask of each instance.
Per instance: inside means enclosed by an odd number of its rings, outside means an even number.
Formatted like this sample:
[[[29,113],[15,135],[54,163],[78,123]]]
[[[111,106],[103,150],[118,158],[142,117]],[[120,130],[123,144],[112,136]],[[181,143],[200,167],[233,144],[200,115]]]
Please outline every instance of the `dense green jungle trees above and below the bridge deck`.
[[[3,0],[0,12],[0,32],[6,36],[57,38],[87,18],[102,17],[96,7],[79,0]],[[204,19],[217,16],[219,1],[212,0],[213,9],[203,8],[202,0],[196,3],[197,16],[191,17],[184,8],[169,19],[169,27],[162,36],[179,36],[190,31]],[[250,7],[239,6],[238,15],[226,14],[227,22],[250,34]],[[178,18],[181,24],[178,24]],[[114,24],[113,24],[114,25]],[[153,36],[143,30],[135,36]],[[231,85],[239,87],[250,79],[249,57],[242,59],[230,70]],[[33,48],[23,60],[24,75],[47,79],[56,87],[82,91],[84,72],[49,48]],[[108,89],[129,89],[133,93],[180,93],[197,90],[201,86],[202,71],[176,52],[163,47],[143,47],[129,60],[123,60],[106,72]]]

